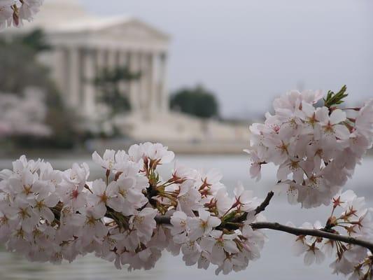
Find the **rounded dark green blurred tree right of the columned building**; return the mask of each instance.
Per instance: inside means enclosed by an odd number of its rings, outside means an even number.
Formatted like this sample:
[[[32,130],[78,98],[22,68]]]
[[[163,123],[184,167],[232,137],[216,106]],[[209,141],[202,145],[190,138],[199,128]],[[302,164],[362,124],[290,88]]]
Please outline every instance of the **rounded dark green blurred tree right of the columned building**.
[[[206,90],[202,85],[177,90],[171,94],[170,106],[174,111],[181,111],[199,118],[219,116],[219,104],[215,94]]]

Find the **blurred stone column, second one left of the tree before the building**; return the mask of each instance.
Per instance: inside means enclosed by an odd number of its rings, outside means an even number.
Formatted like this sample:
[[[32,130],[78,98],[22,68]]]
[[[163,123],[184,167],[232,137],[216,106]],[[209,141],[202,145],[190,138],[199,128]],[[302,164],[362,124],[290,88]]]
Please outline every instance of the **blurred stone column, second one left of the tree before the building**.
[[[71,107],[80,109],[80,50],[76,47],[69,48],[69,104]]]

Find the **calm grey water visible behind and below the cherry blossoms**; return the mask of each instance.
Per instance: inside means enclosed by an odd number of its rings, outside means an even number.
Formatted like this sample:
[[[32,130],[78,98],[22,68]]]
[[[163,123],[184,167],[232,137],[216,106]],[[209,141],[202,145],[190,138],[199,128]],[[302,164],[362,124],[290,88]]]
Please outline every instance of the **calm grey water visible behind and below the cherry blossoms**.
[[[67,169],[72,162],[87,162],[91,167],[91,178],[97,179],[104,176],[100,167],[93,164],[92,160],[86,158],[45,158],[52,163],[55,169]],[[0,169],[10,168],[12,160],[0,160]],[[245,156],[239,155],[181,155],[178,162],[183,165],[197,169],[219,169],[224,174],[223,183],[232,191],[238,181],[247,189],[254,190],[255,196],[265,197],[276,182],[276,172],[273,166],[262,169],[262,180],[255,182],[248,176],[248,161]],[[164,166],[162,174],[166,176],[172,165]],[[357,167],[352,179],[348,181],[345,189],[351,188],[357,195],[365,196],[367,203],[373,207],[373,158],[365,158],[363,165]],[[275,196],[265,211],[268,221],[286,223],[292,221],[295,225],[301,225],[305,221],[314,223],[319,220],[325,223],[330,214],[330,207],[319,207],[317,209],[301,209],[300,205],[290,205],[286,197]],[[328,267],[332,259],[326,258],[321,265],[306,267],[303,257],[295,257],[291,252],[290,235],[282,232],[266,231],[269,241],[265,244],[262,257],[251,262],[243,272],[232,272],[224,276],[216,276],[214,269],[197,269],[184,265],[181,257],[173,257],[164,252],[162,258],[154,269],[149,271],[127,272],[126,267],[122,270],[115,269],[111,262],[106,262],[94,255],[86,255],[75,262],[62,265],[50,263],[28,262],[22,255],[7,253],[3,247],[0,249],[0,279],[1,280],[101,280],[101,279],[344,279],[342,275],[331,274]]]

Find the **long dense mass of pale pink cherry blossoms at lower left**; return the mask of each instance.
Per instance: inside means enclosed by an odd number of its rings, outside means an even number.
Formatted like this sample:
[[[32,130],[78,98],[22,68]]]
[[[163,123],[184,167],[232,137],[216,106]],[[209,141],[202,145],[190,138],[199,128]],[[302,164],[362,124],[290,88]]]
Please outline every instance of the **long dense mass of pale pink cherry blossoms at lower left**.
[[[131,270],[154,267],[167,249],[181,251],[186,265],[216,265],[217,274],[259,257],[265,235],[251,223],[263,217],[251,191],[238,186],[229,197],[218,172],[181,165],[162,179],[157,167],[174,153],[161,144],[92,159],[102,179],[89,181],[85,163],[62,172],[24,156],[0,172],[0,241],[8,251],[54,263],[94,253]]]

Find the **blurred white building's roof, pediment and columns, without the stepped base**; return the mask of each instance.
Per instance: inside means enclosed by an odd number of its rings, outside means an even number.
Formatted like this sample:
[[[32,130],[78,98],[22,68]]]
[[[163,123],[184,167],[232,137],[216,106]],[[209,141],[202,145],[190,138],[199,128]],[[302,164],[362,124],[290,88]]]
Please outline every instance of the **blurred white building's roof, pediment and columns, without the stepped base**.
[[[141,72],[139,80],[121,85],[132,110],[167,111],[167,34],[136,18],[91,15],[75,0],[45,1],[34,22],[13,31],[37,27],[53,47],[41,59],[50,65],[66,103],[83,116],[94,119],[100,108],[90,81],[104,68],[125,65]]]

